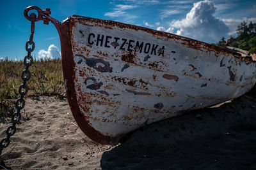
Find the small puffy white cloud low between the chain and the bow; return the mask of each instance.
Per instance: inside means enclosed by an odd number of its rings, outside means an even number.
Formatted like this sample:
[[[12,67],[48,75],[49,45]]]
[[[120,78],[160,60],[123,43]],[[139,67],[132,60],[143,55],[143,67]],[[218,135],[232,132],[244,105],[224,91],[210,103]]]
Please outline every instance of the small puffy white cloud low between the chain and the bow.
[[[38,52],[38,59],[58,59],[61,57],[59,48],[55,45],[50,45],[48,50],[40,50]]]

